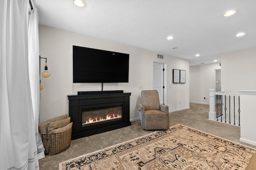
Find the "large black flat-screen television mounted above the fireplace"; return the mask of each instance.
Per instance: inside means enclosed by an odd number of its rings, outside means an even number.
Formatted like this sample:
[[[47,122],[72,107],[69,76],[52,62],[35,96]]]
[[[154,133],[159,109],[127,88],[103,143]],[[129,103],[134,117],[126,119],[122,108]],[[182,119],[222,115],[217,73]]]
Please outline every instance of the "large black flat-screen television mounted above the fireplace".
[[[129,54],[73,45],[73,82],[128,82]]]

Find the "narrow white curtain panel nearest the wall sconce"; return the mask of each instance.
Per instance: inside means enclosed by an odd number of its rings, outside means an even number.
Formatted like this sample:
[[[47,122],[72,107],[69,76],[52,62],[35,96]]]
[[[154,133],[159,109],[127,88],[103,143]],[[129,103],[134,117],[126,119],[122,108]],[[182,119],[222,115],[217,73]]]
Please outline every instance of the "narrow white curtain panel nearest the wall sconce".
[[[40,110],[40,78],[39,78],[39,35],[38,35],[38,13],[34,8],[30,14],[28,26],[28,70],[31,89],[33,113],[35,119],[35,134],[38,159],[44,158],[44,145],[38,132],[39,110]]]

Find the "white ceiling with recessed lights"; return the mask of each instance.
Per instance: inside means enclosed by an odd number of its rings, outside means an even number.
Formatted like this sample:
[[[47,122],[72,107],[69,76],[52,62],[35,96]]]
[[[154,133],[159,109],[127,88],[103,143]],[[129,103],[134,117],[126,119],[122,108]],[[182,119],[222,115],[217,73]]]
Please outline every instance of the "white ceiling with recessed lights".
[[[188,59],[190,65],[220,62],[221,53],[256,47],[256,0],[84,1],[83,8],[73,0],[32,4],[42,25]],[[232,9],[236,14],[223,16]],[[239,32],[246,35],[236,37]]]

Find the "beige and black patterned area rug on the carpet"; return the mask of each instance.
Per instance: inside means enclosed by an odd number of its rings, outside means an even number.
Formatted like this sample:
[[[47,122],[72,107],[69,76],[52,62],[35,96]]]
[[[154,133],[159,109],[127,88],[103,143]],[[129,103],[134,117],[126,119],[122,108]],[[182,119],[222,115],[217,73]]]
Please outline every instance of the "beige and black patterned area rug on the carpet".
[[[256,150],[176,125],[61,162],[60,170],[244,170]]]

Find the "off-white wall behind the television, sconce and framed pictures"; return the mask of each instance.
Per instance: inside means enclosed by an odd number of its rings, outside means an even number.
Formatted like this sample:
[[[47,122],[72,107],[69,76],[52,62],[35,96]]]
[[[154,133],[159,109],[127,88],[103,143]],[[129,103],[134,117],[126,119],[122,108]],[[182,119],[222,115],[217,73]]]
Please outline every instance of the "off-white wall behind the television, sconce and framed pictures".
[[[141,103],[141,91],[152,89],[152,62],[167,63],[169,111],[189,108],[189,61],[164,55],[157,59],[157,52],[140,49],[122,43],[107,41],[72,33],[53,27],[39,25],[39,44],[41,57],[47,58],[49,78],[40,76],[43,90],[40,91],[40,123],[68,113],[67,95],[78,91],[100,91],[100,83],[72,82],[72,45],[116,51],[130,54],[129,83],[105,83],[103,90],[124,90],[131,92],[130,120],[138,119],[138,106]],[[41,73],[45,61],[41,60]],[[186,70],[185,84],[172,84],[172,69]],[[143,89],[139,89],[142,86]],[[208,88],[209,89],[209,88]]]

